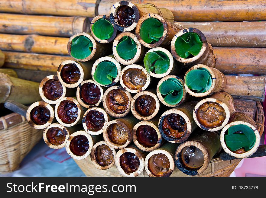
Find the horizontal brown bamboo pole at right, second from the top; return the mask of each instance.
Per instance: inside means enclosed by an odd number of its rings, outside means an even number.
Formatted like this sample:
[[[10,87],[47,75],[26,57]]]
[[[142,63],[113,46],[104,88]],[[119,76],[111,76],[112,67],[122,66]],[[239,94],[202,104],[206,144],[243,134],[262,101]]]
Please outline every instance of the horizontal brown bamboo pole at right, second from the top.
[[[173,22],[195,27],[215,47],[266,47],[265,22]]]

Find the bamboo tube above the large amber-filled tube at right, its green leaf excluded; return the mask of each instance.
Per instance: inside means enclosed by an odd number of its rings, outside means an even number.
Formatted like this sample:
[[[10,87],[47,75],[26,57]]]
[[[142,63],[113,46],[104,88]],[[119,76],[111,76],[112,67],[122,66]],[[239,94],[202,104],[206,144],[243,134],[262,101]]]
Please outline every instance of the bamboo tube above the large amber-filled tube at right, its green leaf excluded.
[[[205,97],[207,95],[211,95],[213,93],[219,92],[221,90],[223,90],[223,88],[225,88],[226,86],[226,78],[225,75],[221,72],[219,72],[218,69],[212,68],[212,67],[208,67],[206,65],[194,65],[193,67],[191,67],[189,70],[187,70],[185,77],[184,77],[184,81],[186,81],[186,76],[188,74],[188,72],[192,71],[192,70],[196,70],[199,68],[204,68],[207,69],[208,72],[211,74],[212,77],[212,86],[209,88],[209,90],[207,90],[206,92],[203,93],[196,93],[195,91],[191,90],[190,88],[188,88],[187,84],[184,83],[185,89],[187,91],[187,93],[189,93],[192,96],[195,97]]]

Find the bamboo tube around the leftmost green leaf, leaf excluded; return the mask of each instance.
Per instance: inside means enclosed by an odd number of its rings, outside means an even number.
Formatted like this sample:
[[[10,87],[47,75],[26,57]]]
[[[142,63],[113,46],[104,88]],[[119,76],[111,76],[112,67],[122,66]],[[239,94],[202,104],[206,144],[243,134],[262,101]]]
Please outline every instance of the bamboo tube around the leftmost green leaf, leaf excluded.
[[[93,49],[92,49],[91,54],[84,59],[76,59],[74,56],[71,55],[72,40],[78,36],[85,36],[85,37],[89,38],[89,40],[91,40],[91,42],[93,44]],[[80,62],[86,62],[89,60],[96,60],[96,59],[106,55],[107,53],[109,53],[111,51],[110,47],[111,46],[109,44],[104,45],[103,43],[96,42],[94,40],[94,38],[92,37],[92,34],[86,33],[86,32],[80,32],[80,33],[74,34],[72,37],[70,37],[70,39],[67,43],[67,51],[68,51],[69,55],[73,59],[80,61]]]

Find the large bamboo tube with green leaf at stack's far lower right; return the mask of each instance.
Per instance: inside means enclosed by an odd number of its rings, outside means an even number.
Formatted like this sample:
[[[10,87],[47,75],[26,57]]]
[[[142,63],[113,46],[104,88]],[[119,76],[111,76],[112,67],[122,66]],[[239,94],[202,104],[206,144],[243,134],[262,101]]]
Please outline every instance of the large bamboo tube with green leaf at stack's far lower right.
[[[251,148],[249,147],[247,150],[244,148],[244,146],[237,150],[231,150],[228,148],[227,141],[225,140],[225,136],[228,136],[228,130],[234,126],[238,127],[241,125],[247,126],[247,129],[245,128],[245,131],[243,130],[236,130],[233,134],[243,134],[246,135],[246,133],[250,134],[249,136],[255,137],[255,142],[251,144]],[[240,128],[239,128],[240,129]],[[251,133],[254,133],[251,135]],[[231,135],[233,135],[231,134]],[[228,136],[228,140],[230,141],[230,138]],[[222,145],[222,148],[226,153],[229,155],[232,155],[235,158],[247,158],[250,155],[252,155],[254,152],[257,151],[258,146],[260,145],[260,134],[257,130],[257,126],[254,120],[252,120],[250,117],[248,117],[244,113],[235,113],[231,118],[230,121],[221,131],[220,135],[220,142]],[[244,142],[244,141],[242,141]],[[235,143],[234,143],[235,144]]]

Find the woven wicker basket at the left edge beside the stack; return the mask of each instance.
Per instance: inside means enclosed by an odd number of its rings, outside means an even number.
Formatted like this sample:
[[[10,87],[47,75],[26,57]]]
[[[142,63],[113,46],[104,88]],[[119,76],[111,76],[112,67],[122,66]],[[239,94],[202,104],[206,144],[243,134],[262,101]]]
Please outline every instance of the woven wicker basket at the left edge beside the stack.
[[[25,117],[11,113],[0,118],[0,173],[14,171],[42,138],[42,130],[28,125]]]

